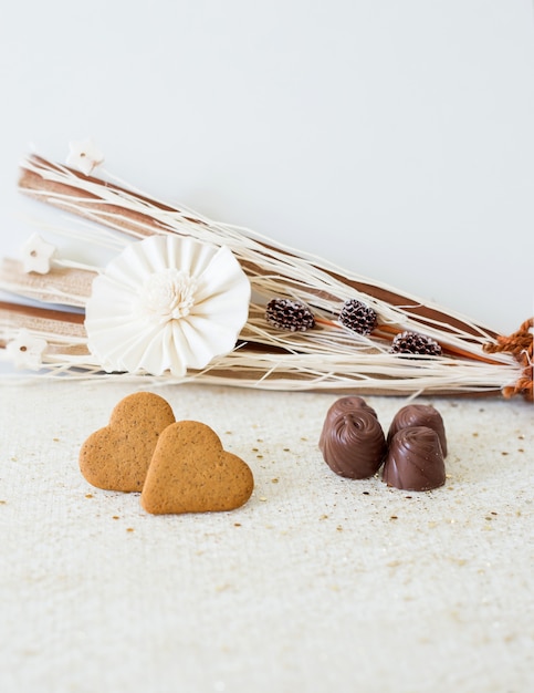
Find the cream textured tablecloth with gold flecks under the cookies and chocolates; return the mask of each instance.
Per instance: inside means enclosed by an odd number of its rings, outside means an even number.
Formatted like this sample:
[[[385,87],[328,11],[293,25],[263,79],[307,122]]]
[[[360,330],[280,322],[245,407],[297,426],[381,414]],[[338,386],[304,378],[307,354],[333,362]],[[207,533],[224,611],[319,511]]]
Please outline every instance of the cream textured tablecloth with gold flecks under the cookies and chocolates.
[[[534,690],[532,406],[428,400],[449,478],[417,494],[329,470],[336,395],[158,387],[255,490],[157,517],[77,467],[136,389],[0,381],[2,693]],[[405,404],[367,401],[385,430]]]

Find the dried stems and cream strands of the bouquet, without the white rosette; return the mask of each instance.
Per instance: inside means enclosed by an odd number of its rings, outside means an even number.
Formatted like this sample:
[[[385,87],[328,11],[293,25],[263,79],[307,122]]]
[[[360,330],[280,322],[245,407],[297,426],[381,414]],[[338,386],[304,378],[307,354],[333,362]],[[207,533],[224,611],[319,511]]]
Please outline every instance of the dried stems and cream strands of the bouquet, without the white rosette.
[[[174,382],[360,394],[503,393],[532,400],[532,319],[503,338],[456,312],[251,230],[214,223],[40,156],[22,164],[20,189],[97,223],[102,237],[70,231],[87,247],[107,241],[112,229],[118,244],[172,234],[230,248],[252,288],[247,324],[233,351],[184,377],[164,376]],[[8,351],[11,344],[12,353],[24,330],[46,342],[41,374],[109,376],[87,349],[83,325],[98,271],[65,261],[36,275],[24,271],[20,261],[4,260],[0,288],[46,306],[0,303],[0,346]],[[305,325],[299,323],[302,316]]]

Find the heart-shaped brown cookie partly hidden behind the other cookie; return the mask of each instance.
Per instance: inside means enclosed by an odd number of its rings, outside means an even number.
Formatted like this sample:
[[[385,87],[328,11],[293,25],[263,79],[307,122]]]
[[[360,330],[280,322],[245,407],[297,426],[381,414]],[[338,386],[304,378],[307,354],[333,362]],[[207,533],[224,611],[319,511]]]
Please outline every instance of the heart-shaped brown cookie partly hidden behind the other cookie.
[[[159,435],[174,422],[170,405],[159,395],[128,395],[113,410],[109,424],[82,445],[82,474],[98,488],[140,492]]]

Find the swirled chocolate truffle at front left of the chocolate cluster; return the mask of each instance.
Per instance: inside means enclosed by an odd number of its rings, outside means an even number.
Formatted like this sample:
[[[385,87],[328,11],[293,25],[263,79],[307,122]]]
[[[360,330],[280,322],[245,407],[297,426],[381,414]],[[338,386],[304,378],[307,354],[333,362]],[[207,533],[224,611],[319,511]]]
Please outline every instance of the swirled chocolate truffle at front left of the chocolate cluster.
[[[359,406],[326,417],[320,447],[333,472],[365,479],[378,472],[386,453],[386,437],[376,415]]]

